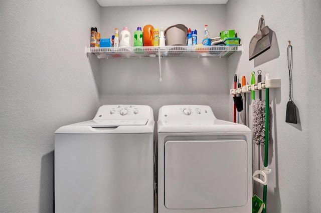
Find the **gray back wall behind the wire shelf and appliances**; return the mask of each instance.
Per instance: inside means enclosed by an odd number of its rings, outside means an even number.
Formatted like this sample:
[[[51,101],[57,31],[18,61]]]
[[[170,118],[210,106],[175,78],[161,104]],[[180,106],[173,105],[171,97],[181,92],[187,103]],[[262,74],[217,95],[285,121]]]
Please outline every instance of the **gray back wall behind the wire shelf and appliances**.
[[[204,37],[204,24],[218,36],[226,28],[224,4],[125,6],[101,8],[101,36],[111,37],[114,28],[124,26],[133,34],[145,24],[164,30],[182,23],[198,31],[198,43]],[[159,82],[158,58],[101,60],[100,94],[102,103],[150,105],[157,119],[158,109],[166,104],[210,105],[215,115],[228,119],[226,95],[226,58],[164,58],[163,81]]]

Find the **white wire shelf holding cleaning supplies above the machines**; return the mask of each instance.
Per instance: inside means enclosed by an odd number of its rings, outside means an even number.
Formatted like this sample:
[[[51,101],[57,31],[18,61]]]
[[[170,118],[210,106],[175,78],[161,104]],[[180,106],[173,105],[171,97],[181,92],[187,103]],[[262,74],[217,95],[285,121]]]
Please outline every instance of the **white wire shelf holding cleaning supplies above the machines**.
[[[86,53],[98,58],[228,57],[236,51],[242,51],[242,45],[86,47]]]

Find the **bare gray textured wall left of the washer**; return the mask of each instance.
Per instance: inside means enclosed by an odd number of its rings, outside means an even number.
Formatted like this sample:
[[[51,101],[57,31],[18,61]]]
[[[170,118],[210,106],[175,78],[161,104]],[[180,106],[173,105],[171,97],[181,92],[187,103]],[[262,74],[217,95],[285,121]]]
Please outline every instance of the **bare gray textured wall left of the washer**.
[[[85,55],[93,0],[0,5],[0,211],[53,211],[54,132],[99,106]]]

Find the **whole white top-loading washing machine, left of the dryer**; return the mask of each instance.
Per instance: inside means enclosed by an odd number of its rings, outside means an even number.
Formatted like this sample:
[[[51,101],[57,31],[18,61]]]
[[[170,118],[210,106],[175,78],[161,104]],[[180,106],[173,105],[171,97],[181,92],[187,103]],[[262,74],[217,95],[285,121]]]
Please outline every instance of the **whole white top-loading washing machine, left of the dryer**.
[[[56,212],[153,212],[154,119],[146,105],[102,105],[55,132]]]

